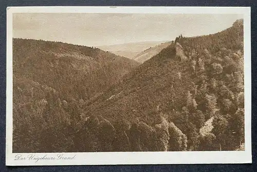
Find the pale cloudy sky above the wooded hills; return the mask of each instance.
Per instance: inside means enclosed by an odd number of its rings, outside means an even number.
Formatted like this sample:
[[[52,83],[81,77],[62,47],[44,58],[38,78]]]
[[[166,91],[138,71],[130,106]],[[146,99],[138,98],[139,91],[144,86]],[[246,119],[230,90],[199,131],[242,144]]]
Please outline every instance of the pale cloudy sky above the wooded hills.
[[[14,13],[13,37],[85,46],[172,41],[227,29],[240,14]]]

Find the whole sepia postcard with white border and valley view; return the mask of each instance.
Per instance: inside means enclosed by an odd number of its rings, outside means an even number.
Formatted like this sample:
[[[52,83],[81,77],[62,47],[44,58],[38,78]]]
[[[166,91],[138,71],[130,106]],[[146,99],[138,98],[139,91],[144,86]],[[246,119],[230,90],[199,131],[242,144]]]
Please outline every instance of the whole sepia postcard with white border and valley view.
[[[250,7],[8,7],[6,165],[251,163]]]

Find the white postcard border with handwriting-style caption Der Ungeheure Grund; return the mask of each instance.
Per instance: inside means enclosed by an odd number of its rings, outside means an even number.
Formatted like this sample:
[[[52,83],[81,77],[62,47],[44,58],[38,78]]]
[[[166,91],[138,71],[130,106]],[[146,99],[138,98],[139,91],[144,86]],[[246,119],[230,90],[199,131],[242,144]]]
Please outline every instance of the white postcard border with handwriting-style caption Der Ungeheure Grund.
[[[244,14],[245,151],[12,153],[12,13],[32,12]],[[250,7],[7,7],[6,165],[251,163],[250,37]]]

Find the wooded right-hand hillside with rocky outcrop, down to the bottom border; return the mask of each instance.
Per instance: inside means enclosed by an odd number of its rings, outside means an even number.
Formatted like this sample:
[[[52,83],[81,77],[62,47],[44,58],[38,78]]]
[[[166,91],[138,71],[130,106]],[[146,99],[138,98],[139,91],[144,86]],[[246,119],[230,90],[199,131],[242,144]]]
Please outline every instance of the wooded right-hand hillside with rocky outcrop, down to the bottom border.
[[[78,151],[235,150],[244,142],[242,45],[242,20],[177,37],[84,105]],[[211,132],[200,135],[211,117]]]

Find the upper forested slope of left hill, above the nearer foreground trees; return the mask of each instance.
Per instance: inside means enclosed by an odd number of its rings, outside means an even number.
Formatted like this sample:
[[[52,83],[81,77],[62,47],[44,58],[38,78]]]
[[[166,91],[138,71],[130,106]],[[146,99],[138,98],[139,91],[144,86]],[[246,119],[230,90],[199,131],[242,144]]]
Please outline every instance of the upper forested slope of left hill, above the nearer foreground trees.
[[[87,100],[117,83],[134,61],[96,48],[65,43],[13,40],[14,77],[48,85],[64,97]],[[76,90],[76,91],[74,91]]]

